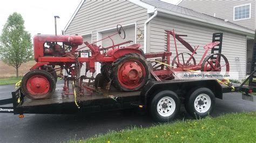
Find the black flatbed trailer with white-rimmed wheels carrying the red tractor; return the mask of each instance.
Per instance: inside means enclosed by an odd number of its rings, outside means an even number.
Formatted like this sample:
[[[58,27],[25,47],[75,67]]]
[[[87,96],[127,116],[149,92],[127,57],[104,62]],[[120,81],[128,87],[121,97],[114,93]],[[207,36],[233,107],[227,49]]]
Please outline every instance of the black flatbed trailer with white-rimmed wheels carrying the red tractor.
[[[78,100],[78,106],[75,96],[62,94],[61,84],[57,84],[53,96],[39,100],[27,98],[18,87],[11,93],[11,98],[0,100],[0,113],[14,113],[22,118],[26,113],[72,114],[142,108],[149,110],[157,121],[169,121],[176,117],[180,104],[184,104],[191,116],[206,117],[213,111],[215,98],[223,99],[225,93],[242,92],[242,99],[254,100],[255,96],[251,93],[256,92],[256,82],[253,80],[256,78],[255,41],[252,54],[251,74],[240,85],[233,83],[227,86],[214,79],[149,81],[139,91],[85,92]],[[246,82],[248,85],[245,85]]]

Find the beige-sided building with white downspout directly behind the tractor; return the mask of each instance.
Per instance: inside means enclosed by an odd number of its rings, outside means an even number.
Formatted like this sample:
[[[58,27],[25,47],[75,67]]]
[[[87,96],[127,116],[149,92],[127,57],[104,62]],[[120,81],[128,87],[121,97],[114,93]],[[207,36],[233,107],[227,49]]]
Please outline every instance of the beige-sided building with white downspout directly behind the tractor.
[[[97,41],[116,32],[117,24],[124,26],[126,39],[117,35],[113,37],[114,42],[133,40],[132,44],[142,44],[145,53],[165,51],[164,30],[174,28],[176,33],[188,35],[184,39],[192,46],[200,46],[195,55],[197,62],[204,53],[203,46],[212,41],[212,33],[223,32],[222,53],[230,61],[231,70],[239,71],[240,78],[246,75],[246,38],[253,37],[253,30],[161,1],[82,1],[66,25],[65,34],[79,34],[89,42]],[[138,37],[140,32],[143,38]],[[176,56],[173,43],[171,38],[171,60]],[[177,43],[179,52],[188,52]],[[106,47],[111,41],[97,44]],[[97,72],[99,68],[97,64]]]

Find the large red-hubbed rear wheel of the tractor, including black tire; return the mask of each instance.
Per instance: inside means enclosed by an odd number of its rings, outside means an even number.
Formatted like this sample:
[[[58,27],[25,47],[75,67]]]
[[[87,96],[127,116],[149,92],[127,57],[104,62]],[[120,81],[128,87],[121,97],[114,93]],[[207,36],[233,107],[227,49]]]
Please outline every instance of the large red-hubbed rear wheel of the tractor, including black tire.
[[[149,79],[146,59],[139,54],[125,54],[113,62],[111,78],[114,87],[123,91],[136,91]]]

